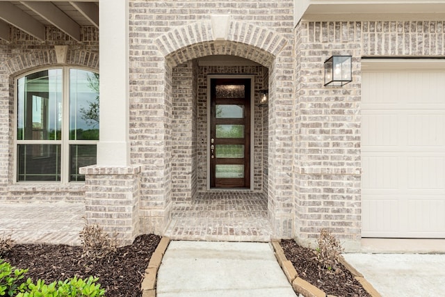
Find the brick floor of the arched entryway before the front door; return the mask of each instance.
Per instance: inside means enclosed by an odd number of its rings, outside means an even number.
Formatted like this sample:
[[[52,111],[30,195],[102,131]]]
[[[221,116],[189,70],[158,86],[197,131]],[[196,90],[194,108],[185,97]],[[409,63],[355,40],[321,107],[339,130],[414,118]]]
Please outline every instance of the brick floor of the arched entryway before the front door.
[[[175,240],[270,241],[267,198],[261,193],[200,193],[191,205],[175,206],[165,232]]]

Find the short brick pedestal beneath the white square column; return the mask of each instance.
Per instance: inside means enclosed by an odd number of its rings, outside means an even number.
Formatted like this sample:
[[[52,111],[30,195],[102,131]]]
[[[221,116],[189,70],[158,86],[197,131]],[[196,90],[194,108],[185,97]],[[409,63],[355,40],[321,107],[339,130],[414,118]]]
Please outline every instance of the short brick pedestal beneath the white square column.
[[[120,246],[133,243],[139,234],[140,167],[79,168],[85,175],[88,223],[118,234]]]

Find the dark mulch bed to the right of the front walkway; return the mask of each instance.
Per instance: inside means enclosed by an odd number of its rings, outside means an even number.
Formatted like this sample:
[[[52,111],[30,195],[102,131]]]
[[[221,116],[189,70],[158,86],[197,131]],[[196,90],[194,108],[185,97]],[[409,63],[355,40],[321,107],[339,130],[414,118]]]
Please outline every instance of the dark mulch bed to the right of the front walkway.
[[[328,271],[318,269],[314,250],[299,246],[292,239],[282,240],[280,245],[284,255],[290,260],[298,272],[298,276],[310,284],[320,288],[328,295],[371,297],[363,289],[353,275],[343,265],[339,264],[342,273],[334,275]]]

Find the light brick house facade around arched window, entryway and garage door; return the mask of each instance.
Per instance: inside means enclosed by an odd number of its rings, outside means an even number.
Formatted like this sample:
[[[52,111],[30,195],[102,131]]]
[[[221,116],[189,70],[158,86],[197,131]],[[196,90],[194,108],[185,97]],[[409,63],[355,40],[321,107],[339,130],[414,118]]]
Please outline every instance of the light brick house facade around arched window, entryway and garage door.
[[[129,13],[129,138],[131,162],[141,166],[131,177],[137,190],[125,190],[136,205],[126,223],[131,236],[162,233],[172,203],[206,189],[207,74],[250,73],[255,99],[269,89],[268,109],[254,112],[255,124],[261,123],[254,125],[254,191],[267,193],[274,236],[309,242],[329,227],[357,246],[361,59],[443,57],[444,21],[300,22],[294,29],[292,0],[131,0]],[[215,15],[229,15],[223,40],[215,41]],[[83,27],[81,42],[51,26],[44,42],[13,28],[10,35],[11,42],[0,42],[0,199],[91,198],[88,182],[12,185],[13,93],[17,75],[56,64],[54,45],[69,46],[67,65],[97,70],[97,29]],[[195,58],[217,54],[262,66],[197,66]],[[323,62],[332,54],[353,56],[353,82],[343,88],[323,87]],[[99,179],[91,176],[90,182]],[[113,176],[117,183],[129,178]]]

